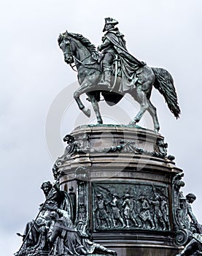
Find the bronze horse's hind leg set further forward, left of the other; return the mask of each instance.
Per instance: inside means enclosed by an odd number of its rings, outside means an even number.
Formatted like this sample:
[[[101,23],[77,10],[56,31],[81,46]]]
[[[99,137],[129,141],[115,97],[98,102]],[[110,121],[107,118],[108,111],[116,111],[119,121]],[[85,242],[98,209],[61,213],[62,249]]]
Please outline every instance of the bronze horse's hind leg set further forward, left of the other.
[[[147,96],[144,93],[144,91],[141,91],[141,86],[137,86],[136,97],[134,97],[134,99],[136,99],[139,102],[140,110],[139,113],[137,113],[136,117],[130,122],[130,124],[138,123],[142,118],[144,112],[149,108]]]

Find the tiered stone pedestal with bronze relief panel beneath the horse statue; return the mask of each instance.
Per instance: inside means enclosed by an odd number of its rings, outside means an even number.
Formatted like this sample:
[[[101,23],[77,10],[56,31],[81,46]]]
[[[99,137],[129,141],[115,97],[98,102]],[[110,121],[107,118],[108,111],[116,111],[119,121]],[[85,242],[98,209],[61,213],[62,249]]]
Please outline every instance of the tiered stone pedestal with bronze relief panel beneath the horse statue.
[[[77,229],[119,256],[176,255],[172,180],[182,170],[163,136],[115,125],[81,126],[71,136],[55,170]]]

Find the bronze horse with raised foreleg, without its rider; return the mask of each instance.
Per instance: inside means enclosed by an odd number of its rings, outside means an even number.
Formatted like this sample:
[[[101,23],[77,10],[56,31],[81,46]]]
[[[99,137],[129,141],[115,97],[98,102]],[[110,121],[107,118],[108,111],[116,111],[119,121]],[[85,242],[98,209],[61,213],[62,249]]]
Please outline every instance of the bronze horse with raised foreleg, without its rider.
[[[158,132],[160,126],[156,108],[149,99],[152,86],[155,86],[155,88],[160,91],[160,94],[163,94],[168,108],[176,118],[179,118],[180,109],[174,88],[174,80],[166,69],[153,68],[145,65],[137,71],[139,72],[137,79],[140,83],[134,82],[133,86],[131,86],[128,91],[117,91],[117,86],[114,85],[112,86],[113,89],[98,86],[102,77],[101,64],[98,61],[98,51],[95,45],[92,45],[88,39],[81,34],[68,33],[66,31],[59,35],[58,45],[61,50],[63,50],[64,61],[70,65],[74,63],[77,67],[80,86],[74,91],[74,99],[79,109],[82,110],[86,116],[90,117],[90,109],[87,109],[79,98],[81,94],[87,94],[88,100],[92,103],[93,110],[96,113],[98,124],[103,124],[98,107],[100,94],[102,94],[108,105],[114,105],[128,93],[140,104],[139,113],[133,118],[130,125],[135,125],[139,122],[144,112],[148,110],[149,114],[152,116],[154,129]],[[72,68],[74,69],[74,67]],[[116,80],[114,83],[120,83],[120,77],[114,79]]]

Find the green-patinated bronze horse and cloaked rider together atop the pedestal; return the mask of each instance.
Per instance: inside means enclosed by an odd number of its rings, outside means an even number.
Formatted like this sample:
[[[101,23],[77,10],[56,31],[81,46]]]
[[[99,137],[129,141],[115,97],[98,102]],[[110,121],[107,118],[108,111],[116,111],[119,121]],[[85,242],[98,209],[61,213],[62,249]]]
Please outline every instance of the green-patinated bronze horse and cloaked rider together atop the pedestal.
[[[98,106],[101,95],[106,103],[112,106],[120,102],[126,93],[131,94],[133,99],[139,102],[140,110],[130,125],[138,123],[148,110],[152,116],[154,130],[158,132],[160,126],[156,108],[149,99],[152,86],[163,94],[168,108],[176,118],[179,118],[180,109],[174,80],[166,69],[148,67],[143,61],[128,53],[124,36],[115,27],[117,23],[117,20],[112,18],[105,19],[106,34],[98,50],[81,34],[66,31],[59,35],[58,45],[63,50],[64,61],[70,64],[72,69],[76,67],[78,72],[79,88],[74,91],[74,99],[79,109],[90,117],[90,109],[86,108],[79,98],[80,95],[87,94],[98,124],[103,124]]]

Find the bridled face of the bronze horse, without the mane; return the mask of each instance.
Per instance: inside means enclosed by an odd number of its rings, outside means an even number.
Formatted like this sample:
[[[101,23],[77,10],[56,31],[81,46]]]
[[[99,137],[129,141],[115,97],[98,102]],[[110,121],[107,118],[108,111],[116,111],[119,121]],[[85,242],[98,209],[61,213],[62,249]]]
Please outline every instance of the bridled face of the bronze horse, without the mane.
[[[71,37],[69,37],[69,34],[67,31],[65,33],[59,35],[58,45],[61,48],[61,50],[63,51],[64,61],[67,64],[73,63],[74,58],[73,58],[73,51],[72,51],[72,46],[71,46]]]

